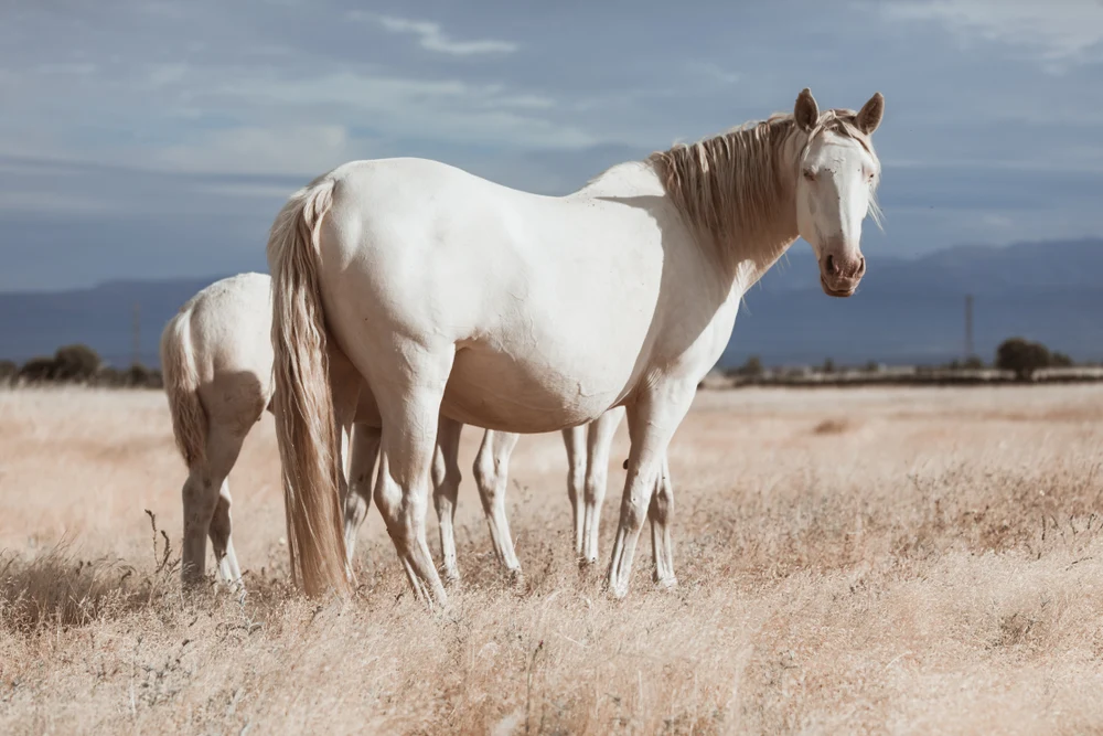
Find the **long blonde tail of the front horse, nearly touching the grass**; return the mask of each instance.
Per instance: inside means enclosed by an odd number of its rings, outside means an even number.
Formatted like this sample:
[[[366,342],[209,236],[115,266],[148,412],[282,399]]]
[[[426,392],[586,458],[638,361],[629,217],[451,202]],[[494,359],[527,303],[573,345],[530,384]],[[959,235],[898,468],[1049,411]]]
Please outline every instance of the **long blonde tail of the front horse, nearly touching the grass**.
[[[268,237],[272,277],[276,438],[291,575],[307,595],[352,590],[338,498],[340,446],[319,285],[319,227],[333,203],[326,175],[299,190]]]

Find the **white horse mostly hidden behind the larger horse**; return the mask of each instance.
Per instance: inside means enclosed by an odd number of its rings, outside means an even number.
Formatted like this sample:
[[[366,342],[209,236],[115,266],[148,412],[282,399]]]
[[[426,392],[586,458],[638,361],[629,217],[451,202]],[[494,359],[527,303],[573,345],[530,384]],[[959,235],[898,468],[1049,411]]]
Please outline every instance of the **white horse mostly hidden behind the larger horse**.
[[[264,274],[242,274],[216,281],[190,299],[165,326],[161,335],[161,366],[176,446],[188,465],[183,487],[184,543],[181,575],[186,584],[203,579],[206,537],[214,547],[219,577],[240,584],[242,572],[231,536],[231,497],[227,477],[242,444],[271,407],[271,279]],[[338,394],[339,392],[335,392]],[[345,388],[335,396],[347,402]],[[583,541],[597,557],[598,513],[604,498],[606,469],[613,433],[623,416],[614,409],[587,427],[564,430],[567,445],[568,494],[575,514],[576,552]],[[341,473],[347,559],[352,561],[356,531],[372,498],[372,471],[379,447],[379,431],[370,424],[352,425],[344,413],[338,425],[347,439]],[[463,425],[441,422],[433,461],[433,487],[440,520],[445,574],[458,579],[452,516],[459,491],[460,431]],[[514,553],[505,515],[505,488],[510,455],[517,435],[486,431],[475,458],[474,473],[499,561],[512,573],[521,565]],[[585,506],[583,506],[585,488]],[[587,536],[583,540],[583,516]],[[587,547],[589,550],[590,547]]]

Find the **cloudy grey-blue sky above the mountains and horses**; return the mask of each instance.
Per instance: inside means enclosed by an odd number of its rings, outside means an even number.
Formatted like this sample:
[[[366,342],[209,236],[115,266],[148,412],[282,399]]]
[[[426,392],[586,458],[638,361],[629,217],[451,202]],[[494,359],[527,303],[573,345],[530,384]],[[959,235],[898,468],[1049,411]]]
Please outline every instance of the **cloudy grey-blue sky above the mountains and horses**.
[[[0,290],[263,269],[352,159],[566,193],[804,86],[885,94],[871,260],[1103,234],[1100,0],[747,4],[2,2]]]

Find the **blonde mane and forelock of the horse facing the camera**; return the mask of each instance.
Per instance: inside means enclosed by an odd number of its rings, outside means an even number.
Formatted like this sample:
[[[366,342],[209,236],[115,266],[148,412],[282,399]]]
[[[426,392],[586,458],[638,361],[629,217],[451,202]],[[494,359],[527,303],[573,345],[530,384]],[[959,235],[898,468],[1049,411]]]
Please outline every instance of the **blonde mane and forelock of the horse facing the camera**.
[[[652,153],[647,161],[700,246],[713,248],[729,265],[751,257],[769,266],[797,237],[792,198],[812,141],[834,132],[858,141],[877,160],[856,117],[854,110],[829,109],[805,134],[792,114],[775,114],[696,143],[678,143]],[[788,146],[797,135],[806,139],[795,167],[786,171]],[[870,212],[880,224],[872,196]],[[752,252],[733,253],[736,244]]]

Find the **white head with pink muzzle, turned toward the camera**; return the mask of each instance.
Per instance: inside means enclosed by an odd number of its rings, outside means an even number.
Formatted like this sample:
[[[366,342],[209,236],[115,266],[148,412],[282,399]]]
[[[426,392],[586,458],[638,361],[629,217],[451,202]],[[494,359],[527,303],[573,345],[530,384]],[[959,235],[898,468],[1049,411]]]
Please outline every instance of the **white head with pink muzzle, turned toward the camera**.
[[[880,224],[874,200],[880,163],[869,138],[884,113],[880,93],[858,113],[821,114],[807,88],[796,98],[793,119],[807,135],[799,159],[796,223],[820,262],[820,285],[832,297],[853,295],[866,273],[861,221],[870,214]]]

